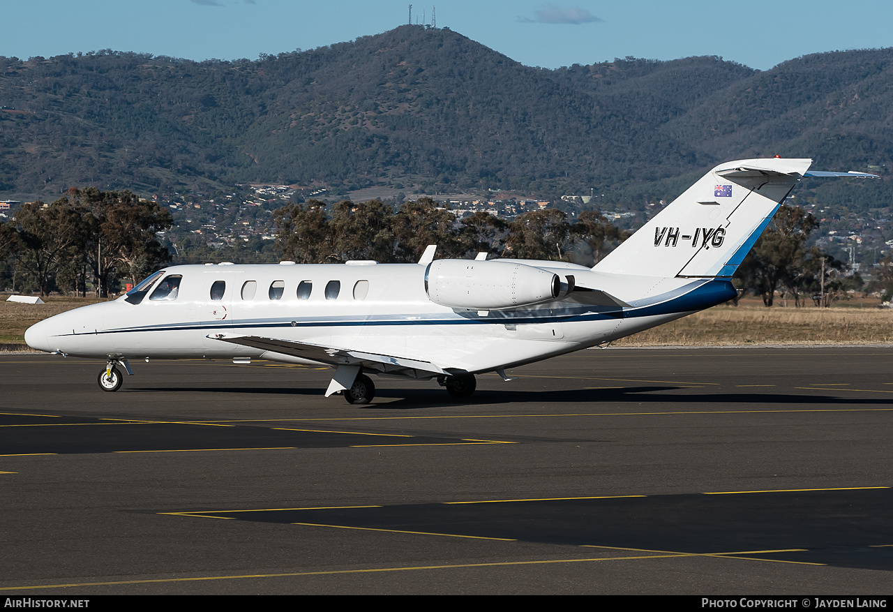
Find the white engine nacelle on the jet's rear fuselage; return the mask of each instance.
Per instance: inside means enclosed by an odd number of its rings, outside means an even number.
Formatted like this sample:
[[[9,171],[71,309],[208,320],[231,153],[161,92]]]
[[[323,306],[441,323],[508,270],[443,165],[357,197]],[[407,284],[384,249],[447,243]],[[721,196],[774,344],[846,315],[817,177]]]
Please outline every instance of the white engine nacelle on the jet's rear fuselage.
[[[440,306],[498,310],[555,299],[561,280],[530,265],[438,259],[425,270],[425,291]]]

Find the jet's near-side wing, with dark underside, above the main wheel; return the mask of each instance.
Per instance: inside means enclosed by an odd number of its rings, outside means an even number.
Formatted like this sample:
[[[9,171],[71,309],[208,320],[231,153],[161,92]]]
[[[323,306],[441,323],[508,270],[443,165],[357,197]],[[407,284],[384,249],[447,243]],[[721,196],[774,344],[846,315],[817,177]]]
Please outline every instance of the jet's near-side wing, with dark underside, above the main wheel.
[[[208,336],[212,340],[221,340],[243,347],[260,348],[261,350],[309,359],[321,364],[338,367],[339,365],[362,365],[364,369],[377,370],[380,373],[394,373],[412,378],[428,378],[433,374],[446,374],[439,365],[430,361],[420,361],[408,357],[378,355],[346,348],[326,347],[311,342],[296,340],[280,340],[261,336],[238,336],[235,334],[215,333]]]

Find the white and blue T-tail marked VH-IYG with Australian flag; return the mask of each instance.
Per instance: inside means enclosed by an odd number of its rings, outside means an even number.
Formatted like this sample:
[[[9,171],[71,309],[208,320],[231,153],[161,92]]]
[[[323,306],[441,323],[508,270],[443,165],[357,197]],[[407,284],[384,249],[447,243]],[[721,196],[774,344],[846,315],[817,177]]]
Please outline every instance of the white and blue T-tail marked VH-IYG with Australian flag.
[[[804,177],[870,177],[809,172],[811,159],[721,163],[624,241],[593,270],[680,279],[730,278],[772,215]]]

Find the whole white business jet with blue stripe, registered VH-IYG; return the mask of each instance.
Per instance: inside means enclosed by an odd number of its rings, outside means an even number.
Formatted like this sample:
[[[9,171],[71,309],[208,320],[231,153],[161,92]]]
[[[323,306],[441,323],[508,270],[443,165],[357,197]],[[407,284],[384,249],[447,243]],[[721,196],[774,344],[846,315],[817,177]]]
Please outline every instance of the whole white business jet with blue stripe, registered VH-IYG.
[[[179,265],[112,302],[57,314],[28,344],[102,358],[106,391],[130,359],[269,359],[334,369],[326,397],[368,403],[367,374],[436,379],[470,396],[475,374],[530,364],[667,323],[736,295],[732,273],[810,159],[722,163],[593,268],[434,259],[418,264]]]

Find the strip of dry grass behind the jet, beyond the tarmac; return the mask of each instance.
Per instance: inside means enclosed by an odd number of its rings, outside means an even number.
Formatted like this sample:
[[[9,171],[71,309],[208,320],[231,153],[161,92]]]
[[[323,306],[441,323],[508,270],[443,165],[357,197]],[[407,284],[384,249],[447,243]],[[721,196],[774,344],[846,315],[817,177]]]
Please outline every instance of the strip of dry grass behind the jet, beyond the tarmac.
[[[46,304],[37,305],[0,301],[0,350],[27,349],[24,333],[29,325],[97,301],[102,300],[48,298]],[[758,299],[742,299],[739,306],[715,306],[617,340],[613,346],[893,343],[893,309],[878,308],[877,298],[854,299],[830,308],[781,303],[766,308]]]

